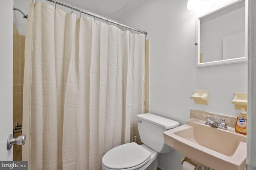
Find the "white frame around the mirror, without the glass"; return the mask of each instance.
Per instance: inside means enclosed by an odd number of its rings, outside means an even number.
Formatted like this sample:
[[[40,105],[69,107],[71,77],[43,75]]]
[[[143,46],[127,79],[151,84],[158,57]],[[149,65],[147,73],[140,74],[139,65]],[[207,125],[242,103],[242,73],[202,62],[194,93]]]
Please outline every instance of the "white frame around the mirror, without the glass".
[[[232,4],[235,4],[240,1],[245,1],[245,57],[235,58],[235,59],[226,59],[220,61],[211,61],[206,63],[200,63],[200,19],[213,14],[214,12],[218,12]],[[241,63],[248,61],[248,0],[232,0],[214,10],[210,10],[205,14],[199,15],[196,17],[196,67],[204,67],[204,66],[214,66],[214,65],[222,65],[222,64],[231,64],[231,63]]]

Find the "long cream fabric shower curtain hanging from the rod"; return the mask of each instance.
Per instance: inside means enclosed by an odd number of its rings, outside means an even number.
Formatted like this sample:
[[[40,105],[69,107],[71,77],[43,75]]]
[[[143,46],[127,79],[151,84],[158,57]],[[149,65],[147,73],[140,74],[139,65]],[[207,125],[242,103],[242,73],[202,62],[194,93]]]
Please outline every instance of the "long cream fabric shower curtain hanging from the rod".
[[[22,160],[30,170],[102,169],[144,113],[145,35],[39,2],[28,16]]]

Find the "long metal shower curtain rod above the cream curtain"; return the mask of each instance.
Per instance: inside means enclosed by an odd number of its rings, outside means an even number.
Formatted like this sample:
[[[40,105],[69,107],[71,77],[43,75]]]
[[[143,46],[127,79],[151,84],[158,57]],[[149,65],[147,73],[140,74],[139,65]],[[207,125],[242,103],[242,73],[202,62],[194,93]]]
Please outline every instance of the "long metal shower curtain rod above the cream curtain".
[[[70,5],[68,5],[68,4],[64,4],[63,2],[59,2],[59,1],[57,1],[57,0],[47,0],[47,1],[50,1],[50,2],[54,3],[54,4],[55,4],[55,7],[56,7],[56,4],[62,5],[62,6],[65,6],[65,7],[67,7],[67,8],[70,8],[71,10],[75,10],[75,11],[77,11],[77,12],[84,13],[84,14],[87,14],[87,15],[89,15],[89,16],[92,16],[92,17],[94,17],[94,19],[95,19],[95,18],[99,18],[99,19],[101,19],[101,20],[106,21],[107,23],[108,23],[108,22],[111,22],[111,23],[116,24],[117,26],[125,27],[126,29],[129,29],[129,31],[130,31],[130,30],[134,30],[134,31],[138,31],[138,33],[140,32],[140,33],[144,33],[145,35],[147,35],[147,32],[146,32],[146,31],[141,31],[141,30],[139,30],[139,29],[136,29],[136,28],[133,28],[133,27],[129,27],[129,26],[127,26],[127,25],[124,25],[124,24],[119,23],[119,22],[116,22],[116,21],[109,20],[108,18],[99,16],[99,15],[97,15],[97,14],[94,14],[94,13],[91,13],[91,12],[88,12],[88,11],[81,10],[80,8],[76,8],[76,7],[70,6]],[[36,0],[36,2],[37,2],[37,0]]]

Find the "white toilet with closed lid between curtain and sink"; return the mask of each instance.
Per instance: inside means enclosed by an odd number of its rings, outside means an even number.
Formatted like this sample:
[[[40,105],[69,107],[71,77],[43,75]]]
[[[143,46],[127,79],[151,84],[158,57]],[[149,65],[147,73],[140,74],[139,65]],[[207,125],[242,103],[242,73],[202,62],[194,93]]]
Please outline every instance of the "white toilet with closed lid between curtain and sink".
[[[145,113],[137,115],[140,139],[144,145],[126,143],[109,150],[102,158],[103,170],[156,170],[157,156],[172,150],[164,143],[164,131],[180,123]]]

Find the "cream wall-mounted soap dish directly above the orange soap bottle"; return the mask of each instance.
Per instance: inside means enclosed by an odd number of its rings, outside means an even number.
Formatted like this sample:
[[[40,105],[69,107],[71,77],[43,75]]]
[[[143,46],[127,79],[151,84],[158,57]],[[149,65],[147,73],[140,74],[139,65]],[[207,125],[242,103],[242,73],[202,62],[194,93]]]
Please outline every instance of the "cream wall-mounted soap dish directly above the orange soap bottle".
[[[235,105],[235,109],[247,110],[247,93],[235,93],[234,100],[232,100],[232,104]]]

